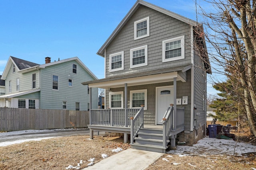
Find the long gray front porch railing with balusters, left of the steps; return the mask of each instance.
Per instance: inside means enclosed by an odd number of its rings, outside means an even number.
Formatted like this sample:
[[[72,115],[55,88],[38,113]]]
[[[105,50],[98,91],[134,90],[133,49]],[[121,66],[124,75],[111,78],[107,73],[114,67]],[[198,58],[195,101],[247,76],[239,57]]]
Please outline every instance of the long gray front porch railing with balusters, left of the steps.
[[[90,125],[130,127],[139,109],[91,109]]]

